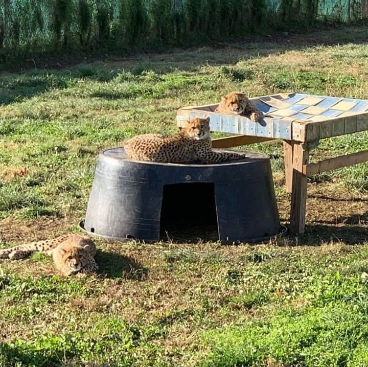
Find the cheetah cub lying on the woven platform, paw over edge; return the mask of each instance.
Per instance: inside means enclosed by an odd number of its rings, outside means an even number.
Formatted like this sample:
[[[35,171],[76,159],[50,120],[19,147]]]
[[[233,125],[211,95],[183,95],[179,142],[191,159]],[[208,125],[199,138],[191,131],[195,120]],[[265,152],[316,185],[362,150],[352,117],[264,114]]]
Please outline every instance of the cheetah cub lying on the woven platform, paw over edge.
[[[232,92],[223,96],[215,112],[246,116],[254,122],[258,122],[260,117],[262,117],[262,112],[241,92]]]

